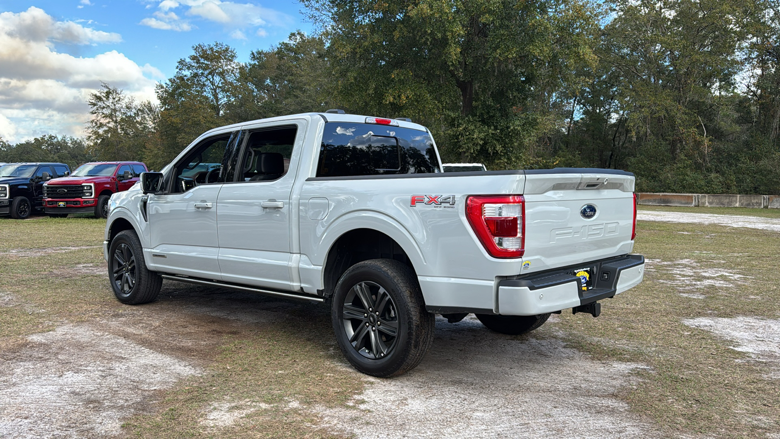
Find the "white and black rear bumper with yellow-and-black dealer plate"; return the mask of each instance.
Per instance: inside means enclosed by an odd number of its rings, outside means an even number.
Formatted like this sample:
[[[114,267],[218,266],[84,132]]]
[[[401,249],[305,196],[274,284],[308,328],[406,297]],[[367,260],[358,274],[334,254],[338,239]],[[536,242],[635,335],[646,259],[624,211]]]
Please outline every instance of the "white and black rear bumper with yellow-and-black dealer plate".
[[[590,267],[593,288],[580,289],[573,269]],[[498,314],[536,316],[612,298],[644,277],[644,256],[626,255],[498,282]]]

